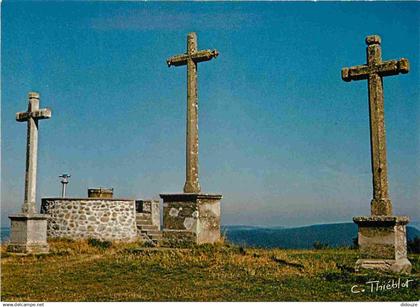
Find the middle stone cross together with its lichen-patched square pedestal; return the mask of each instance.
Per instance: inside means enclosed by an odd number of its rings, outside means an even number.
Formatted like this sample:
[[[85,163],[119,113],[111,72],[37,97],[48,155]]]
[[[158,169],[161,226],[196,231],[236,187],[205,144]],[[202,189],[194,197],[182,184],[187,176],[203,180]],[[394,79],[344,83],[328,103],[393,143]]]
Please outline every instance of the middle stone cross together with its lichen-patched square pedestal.
[[[219,55],[198,50],[197,35],[187,36],[187,52],[169,58],[168,66],[187,66],[186,180],[184,193],[160,194],[163,199],[163,234],[169,240],[197,244],[220,239],[221,195],[202,194],[198,179],[197,65]]]

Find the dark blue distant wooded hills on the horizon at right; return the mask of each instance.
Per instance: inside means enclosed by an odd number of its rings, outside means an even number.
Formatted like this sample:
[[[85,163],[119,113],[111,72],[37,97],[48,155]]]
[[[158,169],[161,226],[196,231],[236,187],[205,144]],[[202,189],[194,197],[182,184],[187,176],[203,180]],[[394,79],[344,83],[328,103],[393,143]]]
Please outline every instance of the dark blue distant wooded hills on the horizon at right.
[[[279,248],[313,248],[319,241],[332,247],[351,246],[357,236],[357,225],[354,223],[322,224],[296,228],[256,227],[256,226],[223,226],[222,232],[228,241],[253,247]],[[420,231],[412,226],[407,227],[407,239],[420,237]]]

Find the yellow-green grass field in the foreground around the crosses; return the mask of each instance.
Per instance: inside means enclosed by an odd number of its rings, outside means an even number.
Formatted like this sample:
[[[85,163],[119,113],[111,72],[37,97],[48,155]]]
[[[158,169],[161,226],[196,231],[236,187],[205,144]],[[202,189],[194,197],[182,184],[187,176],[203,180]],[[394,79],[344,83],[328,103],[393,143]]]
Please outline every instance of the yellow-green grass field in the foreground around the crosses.
[[[281,250],[220,244],[185,249],[52,241],[49,255],[18,257],[2,246],[2,301],[417,301],[413,273],[353,272],[351,249]],[[371,292],[379,285],[407,287]],[[352,293],[351,289],[365,289]],[[376,287],[374,287],[376,288]]]

